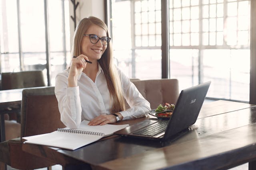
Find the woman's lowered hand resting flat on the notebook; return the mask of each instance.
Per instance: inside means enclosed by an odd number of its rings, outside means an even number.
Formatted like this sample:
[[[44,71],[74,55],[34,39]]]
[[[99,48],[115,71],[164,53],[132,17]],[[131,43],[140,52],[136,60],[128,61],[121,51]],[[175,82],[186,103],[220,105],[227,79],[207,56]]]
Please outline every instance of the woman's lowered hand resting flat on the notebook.
[[[116,122],[116,117],[112,114],[110,115],[99,115],[98,117],[95,117],[92,119],[88,125],[106,125],[108,123],[115,123]]]

